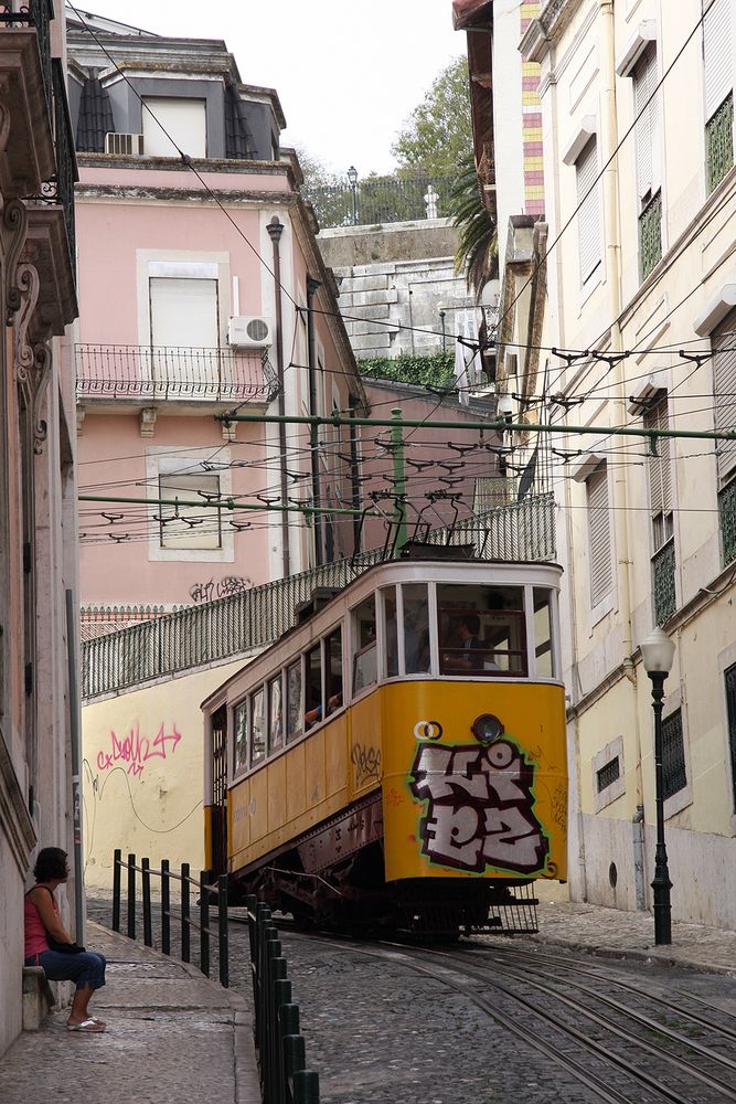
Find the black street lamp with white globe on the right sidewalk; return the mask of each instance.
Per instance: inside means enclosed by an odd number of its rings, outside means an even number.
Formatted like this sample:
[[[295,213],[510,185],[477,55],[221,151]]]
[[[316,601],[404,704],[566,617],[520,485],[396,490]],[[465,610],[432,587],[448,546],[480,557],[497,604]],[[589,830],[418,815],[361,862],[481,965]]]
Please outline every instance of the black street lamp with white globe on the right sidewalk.
[[[657,804],[657,851],[654,853],[654,943],[672,943],[670,905],[670,871],[664,845],[664,772],[662,769],[662,699],[664,680],[672,670],[674,644],[661,628],[649,634],[641,645],[644,669],[652,680],[652,709],[654,711],[654,800]]]

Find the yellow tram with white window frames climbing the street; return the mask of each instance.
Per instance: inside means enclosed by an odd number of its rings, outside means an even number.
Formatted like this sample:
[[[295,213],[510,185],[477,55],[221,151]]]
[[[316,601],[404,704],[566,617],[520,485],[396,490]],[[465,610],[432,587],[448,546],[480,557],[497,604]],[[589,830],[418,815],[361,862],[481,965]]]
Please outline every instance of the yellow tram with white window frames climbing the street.
[[[532,930],[533,881],[566,878],[559,577],[376,565],[211,694],[206,854],[233,898],[340,926]]]

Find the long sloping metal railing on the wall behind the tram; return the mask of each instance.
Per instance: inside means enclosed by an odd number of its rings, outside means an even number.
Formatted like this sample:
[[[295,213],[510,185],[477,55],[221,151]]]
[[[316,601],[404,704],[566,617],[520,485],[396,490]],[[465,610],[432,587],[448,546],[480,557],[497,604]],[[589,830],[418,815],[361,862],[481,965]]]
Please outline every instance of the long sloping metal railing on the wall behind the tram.
[[[542,495],[428,534],[467,544],[486,560],[555,558],[554,497]],[[82,694],[90,701],[126,687],[265,648],[294,625],[297,605],[319,586],[342,588],[385,558],[384,549],[338,560],[214,602],[186,606],[82,645]]]

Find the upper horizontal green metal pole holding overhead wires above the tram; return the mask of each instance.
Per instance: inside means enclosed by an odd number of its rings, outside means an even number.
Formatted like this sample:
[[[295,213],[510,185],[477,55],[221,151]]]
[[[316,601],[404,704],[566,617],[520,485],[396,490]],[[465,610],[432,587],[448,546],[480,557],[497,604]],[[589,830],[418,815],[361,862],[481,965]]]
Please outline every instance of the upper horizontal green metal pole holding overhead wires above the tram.
[[[278,414],[215,414],[216,422],[278,422]],[[295,425],[369,425],[384,429],[393,429],[396,422],[380,417],[316,417],[308,414],[287,415],[286,421]],[[631,426],[611,425],[548,425],[547,423],[505,422],[493,418],[487,422],[438,422],[433,418],[403,418],[404,429],[420,429],[429,424],[433,429],[474,429],[502,433],[506,429],[518,429],[520,433],[558,433],[558,434],[591,434],[598,437],[644,437],[650,440],[657,437],[685,437],[689,440],[736,440],[736,429],[721,432],[697,429],[643,429]]]

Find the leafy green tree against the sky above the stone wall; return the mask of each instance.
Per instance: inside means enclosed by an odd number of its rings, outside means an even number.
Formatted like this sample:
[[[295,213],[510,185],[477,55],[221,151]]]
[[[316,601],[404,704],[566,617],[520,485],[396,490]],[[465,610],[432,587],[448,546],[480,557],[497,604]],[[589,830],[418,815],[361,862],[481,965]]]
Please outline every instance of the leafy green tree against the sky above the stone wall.
[[[455,177],[472,149],[468,61],[450,62],[414,108],[391,151],[405,173]]]

